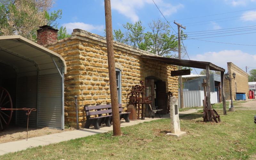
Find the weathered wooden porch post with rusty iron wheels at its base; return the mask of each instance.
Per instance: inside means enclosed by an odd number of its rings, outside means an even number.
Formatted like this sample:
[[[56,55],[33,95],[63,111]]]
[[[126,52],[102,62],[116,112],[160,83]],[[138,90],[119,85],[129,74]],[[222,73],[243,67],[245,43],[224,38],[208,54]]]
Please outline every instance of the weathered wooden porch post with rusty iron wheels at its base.
[[[208,121],[212,121],[212,106],[211,106],[211,101],[210,101],[210,67],[206,66],[206,92],[207,92],[207,116],[208,116]]]

